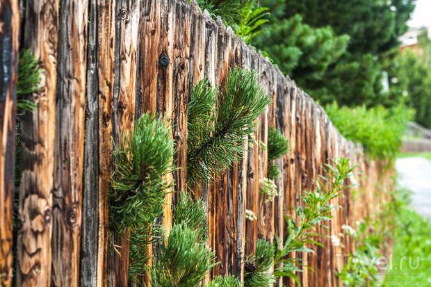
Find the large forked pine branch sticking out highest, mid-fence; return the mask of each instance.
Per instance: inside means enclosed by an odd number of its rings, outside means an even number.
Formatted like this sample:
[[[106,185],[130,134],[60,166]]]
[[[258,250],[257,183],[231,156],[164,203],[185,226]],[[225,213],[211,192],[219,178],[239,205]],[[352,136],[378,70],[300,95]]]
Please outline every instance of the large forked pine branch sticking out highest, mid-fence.
[[[245,137],[256,128],[256,120],[270,98],[250,69],[229,71],[220,104],[218,90],[209,81],[193,89],[188,106],[188,183],[211,181],[242,156]]]

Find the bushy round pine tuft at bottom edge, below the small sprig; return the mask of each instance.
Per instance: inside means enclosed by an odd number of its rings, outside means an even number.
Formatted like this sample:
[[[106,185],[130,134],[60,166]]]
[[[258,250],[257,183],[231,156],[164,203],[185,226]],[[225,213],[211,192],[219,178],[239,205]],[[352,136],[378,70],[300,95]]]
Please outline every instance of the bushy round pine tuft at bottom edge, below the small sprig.
[[[152,286],[194,287],[216,265],[215,253],[197,238],[199,231],[174,224],[168,240],[162,240],[153,264]]]

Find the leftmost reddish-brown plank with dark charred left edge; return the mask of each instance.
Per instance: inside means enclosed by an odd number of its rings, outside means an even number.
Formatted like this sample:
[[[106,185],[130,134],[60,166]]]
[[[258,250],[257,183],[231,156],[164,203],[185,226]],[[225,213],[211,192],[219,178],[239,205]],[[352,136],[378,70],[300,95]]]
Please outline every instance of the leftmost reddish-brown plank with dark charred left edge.
[[[18,1],[0,6],[0,286],[12,286],[15,116],[18,79]]]

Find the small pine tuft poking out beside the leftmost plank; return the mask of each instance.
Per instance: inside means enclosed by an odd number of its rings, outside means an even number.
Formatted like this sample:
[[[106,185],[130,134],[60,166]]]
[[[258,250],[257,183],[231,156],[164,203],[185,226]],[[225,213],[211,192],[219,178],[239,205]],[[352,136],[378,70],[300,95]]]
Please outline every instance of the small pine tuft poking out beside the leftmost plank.
[[[23,49],[19,52],[18,63],[18,81],[17,81],[17,108],[21,110],[33,111],[38,107],[37,104],[28,99],[24,99],[24,95],[37,92],[42,88],[40,79],[42,69],[40,69],[39,61],[35,58],[31,51]]]

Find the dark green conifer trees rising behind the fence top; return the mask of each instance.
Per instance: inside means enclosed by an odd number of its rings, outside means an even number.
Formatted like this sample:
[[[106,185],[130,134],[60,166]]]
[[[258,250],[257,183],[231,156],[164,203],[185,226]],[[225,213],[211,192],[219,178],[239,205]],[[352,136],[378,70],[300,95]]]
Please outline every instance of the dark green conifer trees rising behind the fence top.
[[[414,0],[263,0],[261,5],[270,8],[271,19],[254,44],[311,97],[321,104],[394,104],[382,90],[380,60],[407,31]]]

